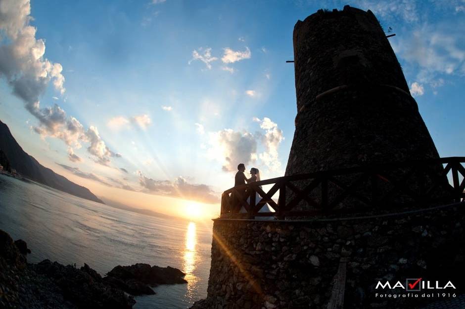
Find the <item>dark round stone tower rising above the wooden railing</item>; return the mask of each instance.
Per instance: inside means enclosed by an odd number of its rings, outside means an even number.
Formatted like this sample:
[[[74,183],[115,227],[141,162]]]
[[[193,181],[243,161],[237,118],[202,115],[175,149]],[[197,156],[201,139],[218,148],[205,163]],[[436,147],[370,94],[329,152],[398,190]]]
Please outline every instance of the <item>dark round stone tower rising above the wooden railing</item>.
[[[297,116],[286,176],[439,157],[370,10],[319,10],[296,23],[293,40]]]

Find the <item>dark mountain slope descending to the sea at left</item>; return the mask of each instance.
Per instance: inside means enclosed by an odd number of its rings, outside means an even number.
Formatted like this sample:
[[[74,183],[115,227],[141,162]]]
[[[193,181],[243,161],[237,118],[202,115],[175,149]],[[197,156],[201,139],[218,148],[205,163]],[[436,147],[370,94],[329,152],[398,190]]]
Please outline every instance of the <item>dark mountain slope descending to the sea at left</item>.
[[[79,186],[65,177],[58,175],[51,169],[39,163],[33,156],[25,153],[11,135],[8,126],[1,121],[0,150],[8,158],[10,167],[15,169],[24,177],[30,178],[57,190],[104,204],[102,200],[96,197],[86,187]]]

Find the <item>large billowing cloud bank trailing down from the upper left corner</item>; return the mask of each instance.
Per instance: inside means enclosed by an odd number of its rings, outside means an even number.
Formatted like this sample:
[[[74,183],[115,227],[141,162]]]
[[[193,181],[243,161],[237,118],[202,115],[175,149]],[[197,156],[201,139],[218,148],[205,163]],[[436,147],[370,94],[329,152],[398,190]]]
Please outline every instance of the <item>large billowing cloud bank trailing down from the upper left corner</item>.
[[[65,77],[59,63],[44,58],[45,41],[36,39],[37,29],[29,24],[30,13],[29,0],[2,0],[0,3],[0,77],[6,79],[13,94],[22,99],[26,110],[39,120],[38,125],[32,126],[35,132],[43,138],[59,138],[69,147],[80,148],[81,142],[90,140],[89,130],[85,132],[78,119],[67,116],[56,104],[40,106],[39,98],[50,83],[64,94]],[[77,160],[77,156],[69,158]]]

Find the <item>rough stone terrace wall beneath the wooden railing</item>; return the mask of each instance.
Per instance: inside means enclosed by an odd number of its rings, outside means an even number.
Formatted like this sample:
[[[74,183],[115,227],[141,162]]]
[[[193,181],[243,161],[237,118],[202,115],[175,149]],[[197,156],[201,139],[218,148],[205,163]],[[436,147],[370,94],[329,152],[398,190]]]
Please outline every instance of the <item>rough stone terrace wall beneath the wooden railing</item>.
[[[216,219],[206,306],[326,308],[341,257],[345,308],[412,305],[375,299],[377,280],[452,280],[460,292],[464,216],[462,205],[339,221]]]

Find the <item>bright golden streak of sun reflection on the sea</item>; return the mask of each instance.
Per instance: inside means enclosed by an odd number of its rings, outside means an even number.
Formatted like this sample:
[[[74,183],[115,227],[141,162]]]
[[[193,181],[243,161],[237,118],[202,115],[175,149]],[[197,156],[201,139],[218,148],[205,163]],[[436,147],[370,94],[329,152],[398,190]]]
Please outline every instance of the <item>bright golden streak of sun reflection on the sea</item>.
[[[187,280],[187,297],[193,297],[194,291],[197,286],[198,278],[192,273],[197,264],[197,233],[195,231],[195,223],[189,222],[186,232],[186,248],[184,249],[184,272],[186,273],[185,279]]]

